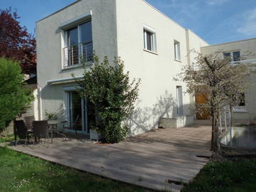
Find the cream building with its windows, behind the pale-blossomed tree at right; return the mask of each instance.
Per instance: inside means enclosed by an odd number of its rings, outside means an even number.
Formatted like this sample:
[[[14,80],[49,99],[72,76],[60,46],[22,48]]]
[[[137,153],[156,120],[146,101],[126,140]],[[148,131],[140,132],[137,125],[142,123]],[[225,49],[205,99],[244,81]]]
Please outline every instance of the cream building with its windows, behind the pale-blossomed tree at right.
[[[213,46],[204,46],[201,53],[210,54],[215,51],[221,52],[221,57],[231,57],[232,65],[237,63],[247,63],[251,68],[256,65],[256,38],[242,41],[221,43]],[[235,120],[255,120],[256,119],[256,74],[252,73],[252,88],[249,92],[241,93],[244,100],[240,105],[234,108],[233,119]]]

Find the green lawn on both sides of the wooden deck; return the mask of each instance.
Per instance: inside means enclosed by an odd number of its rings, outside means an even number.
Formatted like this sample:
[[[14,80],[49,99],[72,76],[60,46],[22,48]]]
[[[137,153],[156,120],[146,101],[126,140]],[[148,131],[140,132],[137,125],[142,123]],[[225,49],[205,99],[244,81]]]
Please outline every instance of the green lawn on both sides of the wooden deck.
[[[147,191],[0,147],[0,191]],[[256,191],[256,160],[211,161],[182,192]]]

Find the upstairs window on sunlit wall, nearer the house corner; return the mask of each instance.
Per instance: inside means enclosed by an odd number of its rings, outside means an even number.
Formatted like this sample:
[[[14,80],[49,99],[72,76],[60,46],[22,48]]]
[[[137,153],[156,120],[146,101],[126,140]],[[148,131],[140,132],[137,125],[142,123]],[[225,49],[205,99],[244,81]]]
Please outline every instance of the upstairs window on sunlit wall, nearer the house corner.
[[[156,52],[156,33],[144,28],[144,49]]]

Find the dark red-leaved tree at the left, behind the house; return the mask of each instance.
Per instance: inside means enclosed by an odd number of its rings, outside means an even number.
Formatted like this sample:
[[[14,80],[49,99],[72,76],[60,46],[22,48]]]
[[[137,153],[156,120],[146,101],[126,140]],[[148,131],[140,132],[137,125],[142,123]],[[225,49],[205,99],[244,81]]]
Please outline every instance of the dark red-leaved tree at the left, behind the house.
[[[17,60],[23,73],[36,74],[36,40],[18,18],[11,8],[0,9],[0,58]]]

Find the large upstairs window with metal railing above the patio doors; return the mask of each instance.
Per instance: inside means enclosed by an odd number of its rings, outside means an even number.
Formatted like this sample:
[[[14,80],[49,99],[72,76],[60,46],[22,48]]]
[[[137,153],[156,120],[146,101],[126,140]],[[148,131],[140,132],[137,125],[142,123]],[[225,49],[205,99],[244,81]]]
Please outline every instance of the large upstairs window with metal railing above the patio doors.
[[[92,61],[92,22],[69,28],[65,31],[65,48],[63,48],[63,67]]]

